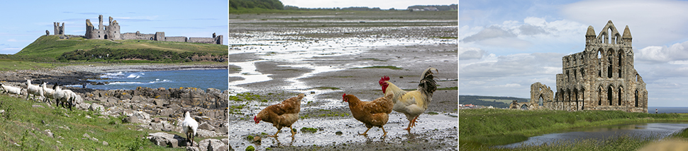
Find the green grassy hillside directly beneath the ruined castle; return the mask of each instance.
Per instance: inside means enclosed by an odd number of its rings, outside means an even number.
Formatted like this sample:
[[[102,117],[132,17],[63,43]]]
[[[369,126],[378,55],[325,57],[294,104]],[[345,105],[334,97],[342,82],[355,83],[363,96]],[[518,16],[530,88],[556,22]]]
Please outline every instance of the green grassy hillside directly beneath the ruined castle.
[[[223,44],[190,42],[160,42],[152,40],[86,40],[81,37],[60,39],[59,35],[43,35],[14,54],[11,59],[30,61],[56,61],[67,52],[91,49],[152,49],[167,52],[196,52],[213,56],[226,56],[228,47]]]

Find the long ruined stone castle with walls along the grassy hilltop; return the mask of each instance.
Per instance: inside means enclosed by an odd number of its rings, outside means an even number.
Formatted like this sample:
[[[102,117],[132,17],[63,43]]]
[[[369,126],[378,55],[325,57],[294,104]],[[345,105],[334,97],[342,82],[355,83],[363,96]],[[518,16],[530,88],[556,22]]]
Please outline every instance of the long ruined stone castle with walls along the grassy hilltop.
[[[65,35],[65,23],[53,23],[55,26],[55,35]],[[48,33],[48,32],[46,32]],[[73,36],[70,36],[73,37]],[[223,44],[223,36],[215,35],[213,37],[165,37],[165,32],[155,32],[155,34],[141,34],[140,32],[126,32],[121,33],[119,23],[109,17],[108,25],[103,25],[103,16],[98,16],[98,28],[91,24],[91,20],[86,20],[86,34],[84,36],[89,40],[155,40],[163,42],[196,42],[205,44]]]

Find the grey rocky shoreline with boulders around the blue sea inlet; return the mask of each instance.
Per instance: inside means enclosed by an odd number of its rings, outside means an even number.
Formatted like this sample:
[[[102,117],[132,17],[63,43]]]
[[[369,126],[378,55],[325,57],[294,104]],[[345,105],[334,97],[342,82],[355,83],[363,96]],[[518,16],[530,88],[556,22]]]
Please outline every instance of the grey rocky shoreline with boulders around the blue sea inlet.
[[[138,72],[138,71],[172,71],[223,69],[226,64],[204,65],[82,65],[60,66],[44,70],[0,71],[2,83],[17,87],[26,87],[26,80],[32,83],[52,85],[79,85],[89,78],[101,73]],[[189,111],[199,121],[199,137],[209,138],[194,143],[194,146],[210,146],[214,149],[227,150],[227,138],[222,140],[213,137],[227,137],[228,90],[209,88],[201,90],[195,87],[151,88],[138,87],[136,90],[96,90],[82,87],[65,87],[77,92],[81,100],[74,104],[76,109],[96,111],[101,118],[121,117],[123,124],[133,124],[142,131],[159,131],[151,133],[148,139],[156,145],[167,147],[186,146],[183,137],[169,132],[181,132],[184,111]],[[26,95],[24,92],[23,95]],[[50,104],[50,103],[49,103]],[[52,105],[52,104],[50,104]],[[198,150],[198,148],[196,148]]]

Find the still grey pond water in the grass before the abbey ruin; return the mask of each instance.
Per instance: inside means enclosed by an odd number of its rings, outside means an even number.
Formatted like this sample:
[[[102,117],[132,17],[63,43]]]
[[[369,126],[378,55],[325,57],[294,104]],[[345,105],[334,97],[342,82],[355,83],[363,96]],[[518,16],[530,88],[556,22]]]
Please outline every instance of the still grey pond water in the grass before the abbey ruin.
[[[584,128],[567,133],[550,133],[528,138],[528,140],[509,145],[495,147],[515,148],[521,145],[538,146],[545,143],[555,143],[559,140],[573,141],[577,139],[606,139],[629,135],[634,138],[665,138],[672,133],[677,133],[688,128],[688,123],[635,123],[618,126],[604,126],[597,128]]]

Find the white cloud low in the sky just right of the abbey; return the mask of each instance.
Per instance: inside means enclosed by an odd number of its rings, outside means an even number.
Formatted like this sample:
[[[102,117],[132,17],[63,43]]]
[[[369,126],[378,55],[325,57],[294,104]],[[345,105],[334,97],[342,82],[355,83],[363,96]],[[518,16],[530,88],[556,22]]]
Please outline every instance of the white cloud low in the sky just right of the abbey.
[[[688,42],[667,46],[648,46],[636,50],[634,57],[637,61],[649,64],[685,64],[688,62]]]

